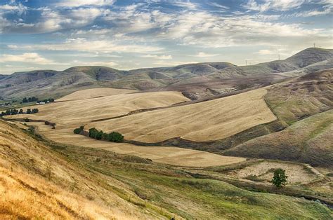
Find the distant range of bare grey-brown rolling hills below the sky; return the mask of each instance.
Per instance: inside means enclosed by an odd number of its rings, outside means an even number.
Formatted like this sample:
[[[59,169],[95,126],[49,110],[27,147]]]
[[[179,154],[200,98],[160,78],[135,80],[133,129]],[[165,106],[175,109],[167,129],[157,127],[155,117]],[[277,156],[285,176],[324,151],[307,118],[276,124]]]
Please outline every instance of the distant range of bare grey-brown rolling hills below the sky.
[[[285,78],[333,67],[333,50],[307,48],[287,58],[237,67],[228,62],[183,64],[122,71],[109,67],[71,67],[0,75],[4,99],[27,96],[58,98],[86,88],[178,90],[191,99],[269,85]]]

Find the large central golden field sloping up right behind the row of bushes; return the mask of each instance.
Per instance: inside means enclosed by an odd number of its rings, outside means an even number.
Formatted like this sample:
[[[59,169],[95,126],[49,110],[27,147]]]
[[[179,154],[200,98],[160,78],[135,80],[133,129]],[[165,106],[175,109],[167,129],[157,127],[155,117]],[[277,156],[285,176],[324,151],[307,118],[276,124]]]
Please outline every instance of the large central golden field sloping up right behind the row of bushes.
[[[125,139],[161,142],[181,137],[197,142],[223,139],[276,118],[263,101],[266,89],[252,90],[231,97],[133,114],[90,123],[103,131],[124,134]]]

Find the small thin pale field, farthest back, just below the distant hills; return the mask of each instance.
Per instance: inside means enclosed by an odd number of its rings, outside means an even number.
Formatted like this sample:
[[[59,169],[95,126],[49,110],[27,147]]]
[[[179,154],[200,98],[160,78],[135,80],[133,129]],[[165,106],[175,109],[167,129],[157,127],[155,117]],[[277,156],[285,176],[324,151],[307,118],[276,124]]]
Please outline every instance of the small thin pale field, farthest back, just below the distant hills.
[[[136,90],[123,90],[116,88],[91,88],[87,90],[79,90],[57,99],[57,102],[70,101],[70,100],[80,100],[80,99],[91,99],[96,97],[105,97],[110,95],[119,95],[136,92]]]

